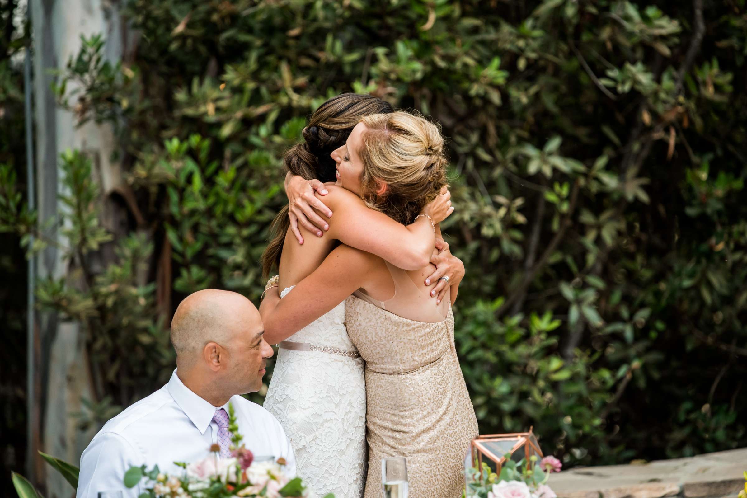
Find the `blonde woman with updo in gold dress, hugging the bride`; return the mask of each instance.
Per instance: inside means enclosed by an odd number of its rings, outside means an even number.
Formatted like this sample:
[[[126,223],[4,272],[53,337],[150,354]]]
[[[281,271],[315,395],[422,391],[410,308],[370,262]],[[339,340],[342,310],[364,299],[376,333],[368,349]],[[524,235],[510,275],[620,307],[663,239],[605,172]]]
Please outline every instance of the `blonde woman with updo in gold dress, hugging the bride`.
[[[366,116],[332,158],[338,185],[404,224],[446,184],[438,127],[401,111]],[[477,420],[454,346],[459,282],[433,299],[426,284],[433,270],[400,270],[341,245],[288,296],[270,289],[261,306],[266,333],[285,335],[345,302],[347,332],[366,361],[365,498],[382,496],[381,459],[388,456],[407,458],[410,496],[462,493]]]

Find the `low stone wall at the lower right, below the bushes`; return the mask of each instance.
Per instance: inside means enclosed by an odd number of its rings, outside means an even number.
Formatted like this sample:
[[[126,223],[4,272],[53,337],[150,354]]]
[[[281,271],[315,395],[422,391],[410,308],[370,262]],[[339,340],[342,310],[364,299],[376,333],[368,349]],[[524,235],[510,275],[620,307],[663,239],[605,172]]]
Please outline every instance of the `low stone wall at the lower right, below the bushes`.
[[[576,468],[554,474],[559,498],[737,498],[747,448],[648,464]]]

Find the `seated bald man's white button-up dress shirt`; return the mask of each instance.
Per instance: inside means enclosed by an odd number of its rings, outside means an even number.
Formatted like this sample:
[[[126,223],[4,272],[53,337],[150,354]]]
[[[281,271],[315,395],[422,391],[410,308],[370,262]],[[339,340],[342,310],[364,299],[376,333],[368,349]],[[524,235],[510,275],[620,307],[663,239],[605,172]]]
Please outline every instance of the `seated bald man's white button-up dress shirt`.
[[[295,476],[296,460],[291,442],[269,411],[241,396],[232,396],[242,441],[255,457],[285,458],[285,471]],[[223,406],[228,412],[228,403]],[[182,384],[174,370],[167,385],[140,399],[109,420],[81,456],[77,498],[97,498],[99,491],[122,491],[136,498],[144,485],[125,488],[123,479],[130,467],[154,465],[163,473],[181,477],[187,464],[210,455],[217,443],[218,426],[213,422],[217,408]]]

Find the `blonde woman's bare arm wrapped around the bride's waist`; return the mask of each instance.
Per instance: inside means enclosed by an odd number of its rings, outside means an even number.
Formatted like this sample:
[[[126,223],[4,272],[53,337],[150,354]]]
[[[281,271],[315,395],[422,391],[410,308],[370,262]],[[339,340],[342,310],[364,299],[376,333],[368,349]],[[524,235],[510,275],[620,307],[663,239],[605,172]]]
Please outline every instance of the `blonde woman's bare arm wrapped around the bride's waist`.
[[[268,290],[259,306],[264,340],[276,344],[291,337],[365,287],[376,259],[368,252],[338,246],[284,298],[280,299],[277,287]]]

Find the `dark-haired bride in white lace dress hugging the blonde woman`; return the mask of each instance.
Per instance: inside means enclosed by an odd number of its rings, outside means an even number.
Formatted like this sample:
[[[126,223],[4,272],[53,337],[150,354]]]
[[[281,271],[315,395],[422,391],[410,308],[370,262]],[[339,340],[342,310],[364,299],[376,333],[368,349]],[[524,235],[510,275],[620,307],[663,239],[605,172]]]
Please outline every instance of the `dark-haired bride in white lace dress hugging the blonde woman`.
[[[335,172],[329,153],[344,145],[362,116],[382,112],[391,112],[391,107],[371,96],[343,94],[329,99],[311,115],[303,131],[306,142],[285,156],[289,178],[329,179],[330,167]],[[406,270],[428,264],[435,243],[432,222],[440,222],[450,212],[448,193],[438,196],[421,211],[423,216],[404,226],[368,208],[359,196],[342,187],[325,184],[317,185],[317,190],[325,187],[324,204],[312,202],[315,208],[321,206],[324,220],[309,213],[320,229],[300,217],[302,228],[294,231],[285,210],[276,217],[276,236],[263,255],[263,267],[267,273],[276,264],[279,277],[271,279],[268,288],[279,286],[282,296],[293,292],[294,284],[316,270],[339,243],[365,249]],[[334,211],[334,217],[327,216],[329,211]],[[323,237],[322,229],[326,230]],[[301,237],[303,245],[297,243]],[[341,303],[294,334],[266,327],[264,335],[267,342],[279,344],[264,407],[277,417],[290,438],[298,473],[311,498],[327,493],[336,498],[359,498],[365,485],[363,361],[347,337],[344,320]]]

